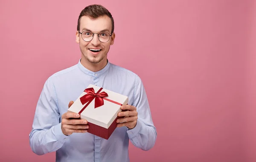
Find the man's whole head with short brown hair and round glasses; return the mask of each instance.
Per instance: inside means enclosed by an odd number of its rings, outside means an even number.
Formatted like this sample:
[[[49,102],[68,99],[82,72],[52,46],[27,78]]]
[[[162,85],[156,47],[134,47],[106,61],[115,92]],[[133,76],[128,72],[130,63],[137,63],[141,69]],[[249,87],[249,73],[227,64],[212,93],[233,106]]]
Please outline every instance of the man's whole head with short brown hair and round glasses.
[[[76,42],[82,53],[82,61],[97,64],[107,60],[115,34],[111,13],[101,5],[84,8],[78,19]]]

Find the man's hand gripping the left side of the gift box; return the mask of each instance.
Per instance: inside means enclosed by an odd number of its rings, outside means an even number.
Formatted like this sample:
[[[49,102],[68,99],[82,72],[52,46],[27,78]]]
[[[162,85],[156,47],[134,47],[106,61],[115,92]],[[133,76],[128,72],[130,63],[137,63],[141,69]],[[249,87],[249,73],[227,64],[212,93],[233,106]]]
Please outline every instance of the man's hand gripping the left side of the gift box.
[[[70,107],[74,102],[70,101],[68,107]],[[70,135],[72,133],[85,133],[89,126],[87,125],[87,120],[80,119],[80,115],[73,112],[66,112],[62,115],[61,120],[61,131],[65,135]]]

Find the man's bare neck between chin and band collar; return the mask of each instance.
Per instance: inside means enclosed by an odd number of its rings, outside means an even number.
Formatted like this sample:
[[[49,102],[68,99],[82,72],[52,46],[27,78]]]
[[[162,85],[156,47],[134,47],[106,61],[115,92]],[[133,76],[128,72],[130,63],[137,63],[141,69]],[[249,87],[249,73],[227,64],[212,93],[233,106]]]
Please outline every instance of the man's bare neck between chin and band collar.
[[[93,72],[97,72],[99,70],[102,70],[108,63],[107,59],[103,59],[102,61],[100,61],[97,64],[93,64],[85,59],[81,59],[81,64],[88,70],[93,71]]]

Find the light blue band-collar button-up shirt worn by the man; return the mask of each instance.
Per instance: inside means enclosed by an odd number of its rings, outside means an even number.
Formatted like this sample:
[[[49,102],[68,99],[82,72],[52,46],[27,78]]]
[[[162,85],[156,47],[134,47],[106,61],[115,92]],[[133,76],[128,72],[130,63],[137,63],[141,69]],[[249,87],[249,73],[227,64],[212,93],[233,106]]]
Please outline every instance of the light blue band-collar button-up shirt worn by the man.
[[[108,140],[90,133],[63,134],[61,115],[67,112],[68,103],[75,101],[89,84],[128,96],[128,104],[137,108],[137,125],[133,129],[116,128]],[[154,146],[156,138],[157,131],[139,76],[109,61],[102,70],[92,72],[80,60],[47,79],[29,134],[32,151],[38,155],[56,151],[56,162],[129,162],[129,140],[147,151]]]

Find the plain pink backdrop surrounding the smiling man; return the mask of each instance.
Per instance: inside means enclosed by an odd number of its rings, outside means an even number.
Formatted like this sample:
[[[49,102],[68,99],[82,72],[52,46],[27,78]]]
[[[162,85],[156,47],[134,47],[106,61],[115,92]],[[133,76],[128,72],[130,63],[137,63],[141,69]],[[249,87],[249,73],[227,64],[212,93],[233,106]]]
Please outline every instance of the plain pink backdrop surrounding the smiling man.
[[[1,162],[55,160],[30,149],[35,106],[81,57],[77,18],[93,3],[113,14],[108,59],[140,75],[157,128],[150,151],[130,145],[131,162],[256,161],[255,1],[1,0]]]

